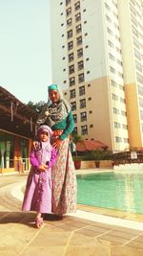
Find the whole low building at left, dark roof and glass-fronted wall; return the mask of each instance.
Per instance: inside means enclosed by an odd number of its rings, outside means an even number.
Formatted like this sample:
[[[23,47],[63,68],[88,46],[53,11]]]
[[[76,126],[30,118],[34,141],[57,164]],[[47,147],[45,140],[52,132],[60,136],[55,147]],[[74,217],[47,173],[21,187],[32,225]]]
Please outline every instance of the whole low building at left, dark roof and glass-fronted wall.
[[[0,174],[30,170],[37,114],[0,86]]]

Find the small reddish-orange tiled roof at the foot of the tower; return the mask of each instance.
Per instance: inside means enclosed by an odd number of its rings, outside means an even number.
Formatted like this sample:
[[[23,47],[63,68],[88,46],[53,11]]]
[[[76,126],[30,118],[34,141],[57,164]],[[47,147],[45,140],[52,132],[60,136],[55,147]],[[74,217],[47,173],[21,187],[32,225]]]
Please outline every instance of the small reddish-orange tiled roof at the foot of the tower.
[[[108,146],[98,140],[81,140],[76,143],[76,151],[107,150]]]

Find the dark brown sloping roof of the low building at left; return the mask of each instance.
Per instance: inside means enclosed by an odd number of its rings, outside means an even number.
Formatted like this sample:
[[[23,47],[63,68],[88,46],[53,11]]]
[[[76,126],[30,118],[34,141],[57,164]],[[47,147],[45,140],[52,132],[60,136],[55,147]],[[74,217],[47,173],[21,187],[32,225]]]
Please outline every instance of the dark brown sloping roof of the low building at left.
[[[0,129],[33,137],[37,113],[0,86]]]

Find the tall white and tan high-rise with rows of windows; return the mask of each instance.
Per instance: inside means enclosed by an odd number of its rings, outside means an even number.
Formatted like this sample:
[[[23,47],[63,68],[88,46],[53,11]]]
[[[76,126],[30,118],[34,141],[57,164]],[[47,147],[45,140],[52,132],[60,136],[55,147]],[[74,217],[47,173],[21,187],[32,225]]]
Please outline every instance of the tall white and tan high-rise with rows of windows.
[[[51,0],[52,81],[75,131],[112,151],[143,146],[143,1]]]

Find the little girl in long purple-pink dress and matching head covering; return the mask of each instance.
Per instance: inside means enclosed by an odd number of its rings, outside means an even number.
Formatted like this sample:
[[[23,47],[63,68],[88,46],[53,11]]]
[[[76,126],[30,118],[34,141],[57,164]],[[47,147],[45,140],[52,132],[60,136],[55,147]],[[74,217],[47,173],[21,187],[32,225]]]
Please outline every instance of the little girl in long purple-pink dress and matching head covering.
[[[31,148],[31,172],[28,176],[23,211],[36,211],[36,227],[43,224],[42,213],[51,213],[51,166],[56,159],[56,150],[51,148],[52,130],[43,125],[37,129],[39,141]]]

